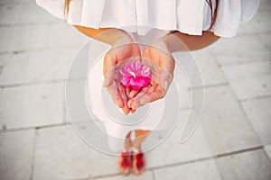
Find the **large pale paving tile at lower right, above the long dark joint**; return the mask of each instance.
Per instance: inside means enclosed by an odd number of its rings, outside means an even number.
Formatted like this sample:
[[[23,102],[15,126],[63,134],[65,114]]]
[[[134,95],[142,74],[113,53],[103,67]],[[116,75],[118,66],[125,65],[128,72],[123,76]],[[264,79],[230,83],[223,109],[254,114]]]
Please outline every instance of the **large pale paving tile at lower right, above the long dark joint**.
[[[201,127],[214,154],[260,145],[229,86],[205,89]]]

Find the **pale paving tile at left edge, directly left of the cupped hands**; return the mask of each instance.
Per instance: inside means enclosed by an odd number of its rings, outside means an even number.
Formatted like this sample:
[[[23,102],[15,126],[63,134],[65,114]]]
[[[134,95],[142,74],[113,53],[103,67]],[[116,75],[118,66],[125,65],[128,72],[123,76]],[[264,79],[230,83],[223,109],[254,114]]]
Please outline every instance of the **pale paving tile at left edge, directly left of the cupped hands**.
[[[4,64],[0,85],[14,85],[66,79],[72,57],[78,49],[46,49],[1,56]],[[3,58],[1,58],[3,57]]]

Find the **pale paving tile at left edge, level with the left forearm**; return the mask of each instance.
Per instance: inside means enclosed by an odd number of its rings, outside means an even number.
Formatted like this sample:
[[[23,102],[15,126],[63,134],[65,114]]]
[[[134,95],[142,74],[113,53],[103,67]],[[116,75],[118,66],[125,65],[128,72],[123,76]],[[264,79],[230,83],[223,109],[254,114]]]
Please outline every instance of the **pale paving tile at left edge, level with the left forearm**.
[[[0,51],[42,49],[48,36],[48,25],[0,27]]]

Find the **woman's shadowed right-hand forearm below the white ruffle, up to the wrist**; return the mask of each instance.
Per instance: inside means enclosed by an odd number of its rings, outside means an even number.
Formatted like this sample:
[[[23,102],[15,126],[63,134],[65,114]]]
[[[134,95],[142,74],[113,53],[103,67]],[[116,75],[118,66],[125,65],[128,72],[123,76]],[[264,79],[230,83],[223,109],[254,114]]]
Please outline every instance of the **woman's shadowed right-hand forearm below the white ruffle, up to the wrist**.
[[[201,36],[175,31],[162,38],[171,52],[203,49],[219,39],[210,31],[203,31]]]

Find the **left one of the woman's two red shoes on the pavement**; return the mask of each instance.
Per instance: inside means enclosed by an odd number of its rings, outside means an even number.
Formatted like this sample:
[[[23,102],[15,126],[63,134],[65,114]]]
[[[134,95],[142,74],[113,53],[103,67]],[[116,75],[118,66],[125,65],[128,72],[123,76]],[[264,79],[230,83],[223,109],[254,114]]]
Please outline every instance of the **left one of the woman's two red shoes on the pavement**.
[[[132,166],[131,151],[125,149],[118,156],[118,167],[121,173],[128,175]]]

